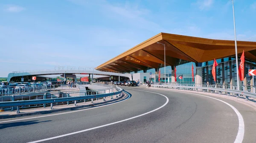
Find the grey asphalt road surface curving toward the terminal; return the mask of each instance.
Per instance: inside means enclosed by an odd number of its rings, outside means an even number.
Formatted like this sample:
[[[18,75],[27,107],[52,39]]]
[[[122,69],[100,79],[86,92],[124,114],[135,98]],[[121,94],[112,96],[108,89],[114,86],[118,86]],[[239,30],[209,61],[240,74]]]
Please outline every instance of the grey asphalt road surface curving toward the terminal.
[[[131,98],[105,107],[5,123],[1,121],[13,119],[0,120],[0,143],[26,143],[60,135],[63,136],[44,143],[234,143],[236,140],[238,116],[221,101],[142,86],[123,89],[131,93]],[[167,104],[163,95],[169,99]],[[255,109],[218,99],[233,105],[243,116],[243,143],[256,143]],[[159,107],[162,108],[150,112]],[[147,112],[150,113],[132,118]],[[128,118],[132,119],[122,121]],[[118,121],[122,122],[104,126]],[[102,127],[91,129],[98,126]],[[65,135],[82,130],[85,131]]]

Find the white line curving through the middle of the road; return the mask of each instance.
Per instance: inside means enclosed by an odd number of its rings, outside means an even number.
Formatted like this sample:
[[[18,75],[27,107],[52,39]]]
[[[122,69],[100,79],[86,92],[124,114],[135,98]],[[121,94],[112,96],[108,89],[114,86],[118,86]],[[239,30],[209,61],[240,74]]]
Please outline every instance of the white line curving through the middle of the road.
[[[140,90],[140,91],[144,91],[144,90]],[[154,92],[150,92],[150,91],[145,91],[145,92],[154,93]],[[131,118],[128,118],[128,119],[125,119],[125,120],[121,120],[121,121],[117,121],[117,122],[113,122],[113,123],[108,123],[108,124],[105,124],[105,125],[102,125],[102,126],[96,126],[96,127],[90,128],[90,129],[84,129],[84,130],[81,130],[81,131],[78,131],[78,132],[72,132],[72,133],[69,133],[69,134],[59,135],[59,136],[56,136],[56,137],[50,137],[50,138],[46,138],[46,139],[43,139],[43,140],[36,140],[36,141],[29,142],[29,143],[38,143],[38,142],[42,142],[42,141],[46,141],[46,140],[52,140],[52,139],[59,138],[59,137],[65,137],[65,136],[68,136],[68,135],[74,135],[74,134],[78,134],[78,133],[81,133],[81,132],[86,132],[86,131],[90,131],[90,130],[93,130],[93,129],[98,129],[98,128],[105,127],[105,126],[110,126],[110,125],[113,125],[113,124],[116,124],[116,123],[121,123],[121,122],[124,122],[124,121],[128,121],[128,120],[131,120],[131,119],[138,118],[140,116],[149,114],[151,112],[157,111],[158,109],[161,109],[164,106],[166,106],[166,104],[169,102],[169,98],[166,97],[163,94],[160,94],[160,93],[155,93],[155,94],[159,94],[159,95],[164,96],[166,98],[166,103],[163,104],[161,107],[158,107],[157,109],[154,109],[152,111],[149,111],[149,112],[146,112],[144,114],[137,115],[135,117],[131,117]]]

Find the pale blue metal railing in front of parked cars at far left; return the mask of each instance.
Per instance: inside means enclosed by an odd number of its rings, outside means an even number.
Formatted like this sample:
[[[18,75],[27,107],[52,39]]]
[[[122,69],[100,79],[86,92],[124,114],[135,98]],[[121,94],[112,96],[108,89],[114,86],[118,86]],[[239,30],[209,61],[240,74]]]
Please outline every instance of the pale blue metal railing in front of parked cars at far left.
[[[47,90],[47,85],[19,87],[19,88],[3,88],[0,89],[0,95],[21,95],[35,92],[43,92]]]

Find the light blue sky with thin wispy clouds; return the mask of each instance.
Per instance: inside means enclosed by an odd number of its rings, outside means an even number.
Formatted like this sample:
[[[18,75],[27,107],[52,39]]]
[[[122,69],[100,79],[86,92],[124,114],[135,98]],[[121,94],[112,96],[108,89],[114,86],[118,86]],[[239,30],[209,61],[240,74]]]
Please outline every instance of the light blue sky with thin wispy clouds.
[[[256,41],[256,1],[234,0],[237,40]],[[234,39],[231,0],[1,0],[0,77],[97,67],[160,32]]]

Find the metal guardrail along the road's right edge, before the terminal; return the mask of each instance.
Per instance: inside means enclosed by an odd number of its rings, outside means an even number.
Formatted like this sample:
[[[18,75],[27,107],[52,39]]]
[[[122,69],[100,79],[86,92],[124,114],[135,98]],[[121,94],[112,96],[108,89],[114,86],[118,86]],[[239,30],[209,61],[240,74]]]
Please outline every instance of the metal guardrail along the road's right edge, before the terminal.
[[[230,90],[230,89],[224,89],[224,88],[213,88],[213,87],[195,87],[195,86],[177,86],[177,85],[159,85],[159,84],[151,84],[151,87],[159,87],[159,88],[177,88],[177,89],[183,89],[183,90],[195,90],[195,91],[207,91],[207,92],[215,92],[221,94],[227,93],[230,95],[231,93],[235,94],[237,98],[239,98],[239,95],[244,95],[246,97],[246,100],[249,100],[249,97],[256,98],[256,93],[250,93],[247,91],[241,91],[241,90]]]

